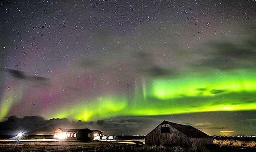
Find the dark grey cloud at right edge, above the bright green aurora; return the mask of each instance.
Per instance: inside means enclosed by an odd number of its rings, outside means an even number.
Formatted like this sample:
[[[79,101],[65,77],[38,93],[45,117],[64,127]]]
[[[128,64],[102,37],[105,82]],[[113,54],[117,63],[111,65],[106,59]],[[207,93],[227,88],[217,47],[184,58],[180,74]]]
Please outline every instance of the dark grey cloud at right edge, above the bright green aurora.
[[[256,65],[255,45],[256,41],[252,40],[209,42],[205,49],[212,51],[199,65],[216,69],[253,68]]]

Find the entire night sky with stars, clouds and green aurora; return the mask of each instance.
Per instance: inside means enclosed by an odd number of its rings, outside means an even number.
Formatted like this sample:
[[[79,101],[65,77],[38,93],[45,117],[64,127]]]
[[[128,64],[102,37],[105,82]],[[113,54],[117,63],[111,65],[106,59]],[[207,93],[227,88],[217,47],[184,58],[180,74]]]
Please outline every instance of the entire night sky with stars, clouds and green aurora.
[[[2,0],[0,121],[133,120],[146,134],[142,122],[152,119],[150,129],[169,120],[210,135],[256,134],[255,8],[253,0]]]

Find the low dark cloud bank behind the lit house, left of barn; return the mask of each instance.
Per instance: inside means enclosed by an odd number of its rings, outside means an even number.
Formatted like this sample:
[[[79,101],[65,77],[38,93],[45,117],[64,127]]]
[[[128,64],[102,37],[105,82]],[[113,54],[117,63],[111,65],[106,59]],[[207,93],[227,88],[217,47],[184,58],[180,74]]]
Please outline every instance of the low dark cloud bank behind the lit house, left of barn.
[[[53,134],[57,128],[90,128],[100,129],[105,134],[136,134],[141,129],[141,122],[119,121],[119,120],[98,120],[89,121],[68,121],[67,119],[45,120],[40,116],[25,116],[18,118],[10,116],[6,121],[0,122],[0,134],[16,134],[17,131],[25,131],[26,134]],[[115,128],[115,129],[113,129]]]

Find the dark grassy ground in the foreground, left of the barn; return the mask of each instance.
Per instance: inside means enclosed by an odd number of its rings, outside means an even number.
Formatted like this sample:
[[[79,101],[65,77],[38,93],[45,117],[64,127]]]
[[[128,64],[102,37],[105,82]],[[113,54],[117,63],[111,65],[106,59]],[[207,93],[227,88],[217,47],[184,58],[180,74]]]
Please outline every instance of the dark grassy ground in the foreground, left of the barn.
[[[176,146],[149,147],[120,142],[79,142],[54,139],[1,140],[0,152],[187,152],[186,149]]]

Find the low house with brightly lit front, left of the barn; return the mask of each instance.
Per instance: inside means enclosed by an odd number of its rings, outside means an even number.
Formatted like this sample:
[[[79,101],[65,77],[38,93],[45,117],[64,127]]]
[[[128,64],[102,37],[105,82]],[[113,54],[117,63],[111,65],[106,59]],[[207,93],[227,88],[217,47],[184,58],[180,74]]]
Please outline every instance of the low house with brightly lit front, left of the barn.
[[[53,139],[91,141],[92,139],[94,139],[94,131],[88,128],[82,128],[82,129],[58,128],[56,131],[54,131]]]

